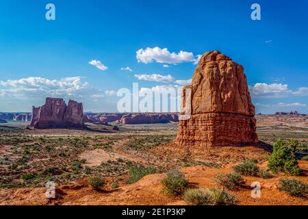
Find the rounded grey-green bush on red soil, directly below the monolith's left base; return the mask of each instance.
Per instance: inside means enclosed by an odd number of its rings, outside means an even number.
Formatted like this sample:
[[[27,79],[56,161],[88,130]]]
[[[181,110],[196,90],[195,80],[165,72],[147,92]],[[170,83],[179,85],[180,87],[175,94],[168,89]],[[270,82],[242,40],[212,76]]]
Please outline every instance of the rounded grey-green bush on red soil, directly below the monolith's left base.
[[[188,179],[179,170],[168,170],[166,177],[162,180],[162,185],[162,192],[170,196],[177,196],[183,194],[188,187]]]

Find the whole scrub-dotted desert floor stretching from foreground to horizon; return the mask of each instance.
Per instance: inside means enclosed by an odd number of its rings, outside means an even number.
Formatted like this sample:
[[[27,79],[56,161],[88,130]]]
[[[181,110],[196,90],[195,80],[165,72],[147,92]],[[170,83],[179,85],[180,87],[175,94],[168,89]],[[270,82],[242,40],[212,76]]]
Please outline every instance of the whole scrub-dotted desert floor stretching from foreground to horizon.
[[[177,123],[112,126],[88,124],[86,130],[27,130],[25,123],[0,125],[0,205],[185,205],[181,196],[162,193],[166,170],[179,168],[192,188],[217,188],[218,173],[232,172],[244,159],[255,158],[266,169],[269,144],[278,138],[300,141],[308,153],[308,116],[257,116],[259,146],[179,147],[172,143]],[[308,162],[300,161],[308,183]],[[156,173],[131,179],[131,166],[151,166]],[[107,181],[104,192],[88,187],[90,177]],[[283,174],[272,179],[244,177],[233,192],[241,205],[308,205],[308,200],[277,189]],[[57,198],[46,198],[45,184],[55,182]],[[261,198],[251,198],[251,183],[261,183]]]

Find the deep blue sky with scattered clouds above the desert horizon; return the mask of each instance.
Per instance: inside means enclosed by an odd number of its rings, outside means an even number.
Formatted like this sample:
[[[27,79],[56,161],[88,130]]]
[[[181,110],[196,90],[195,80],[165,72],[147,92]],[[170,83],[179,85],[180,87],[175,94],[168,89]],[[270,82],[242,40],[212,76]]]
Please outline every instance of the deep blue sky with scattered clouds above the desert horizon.
[[[1,0],[0,112],[30,111],[47,95],[114,112],[119,88],[180,86],[197,55],[219,50],[244,66],[257,112],[307,114],[307,10],[306,0]]]

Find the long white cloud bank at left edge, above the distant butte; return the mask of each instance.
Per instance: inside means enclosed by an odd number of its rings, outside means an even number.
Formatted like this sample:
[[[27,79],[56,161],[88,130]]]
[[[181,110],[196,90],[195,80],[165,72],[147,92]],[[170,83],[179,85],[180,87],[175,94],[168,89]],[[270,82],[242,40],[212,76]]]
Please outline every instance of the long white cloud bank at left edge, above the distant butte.
[[[83,79],[83,77],[65,77],[59,80],[27,77],[0,81],[0,96],[18,99],[42,99],[46,96],[83,98],[100,92],[99,89],[90,87]]]

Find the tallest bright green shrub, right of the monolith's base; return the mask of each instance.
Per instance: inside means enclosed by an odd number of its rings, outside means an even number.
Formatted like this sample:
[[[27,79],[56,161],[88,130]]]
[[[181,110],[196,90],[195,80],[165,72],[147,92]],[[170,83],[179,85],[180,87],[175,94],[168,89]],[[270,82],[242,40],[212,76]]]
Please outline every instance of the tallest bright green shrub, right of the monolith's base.
[[[294,157],[294,142],[277,140],[274,144],[272,156],[268,161],[268,168],[272,172],[285,172],[289,175],[299,175],[300,168]]]

